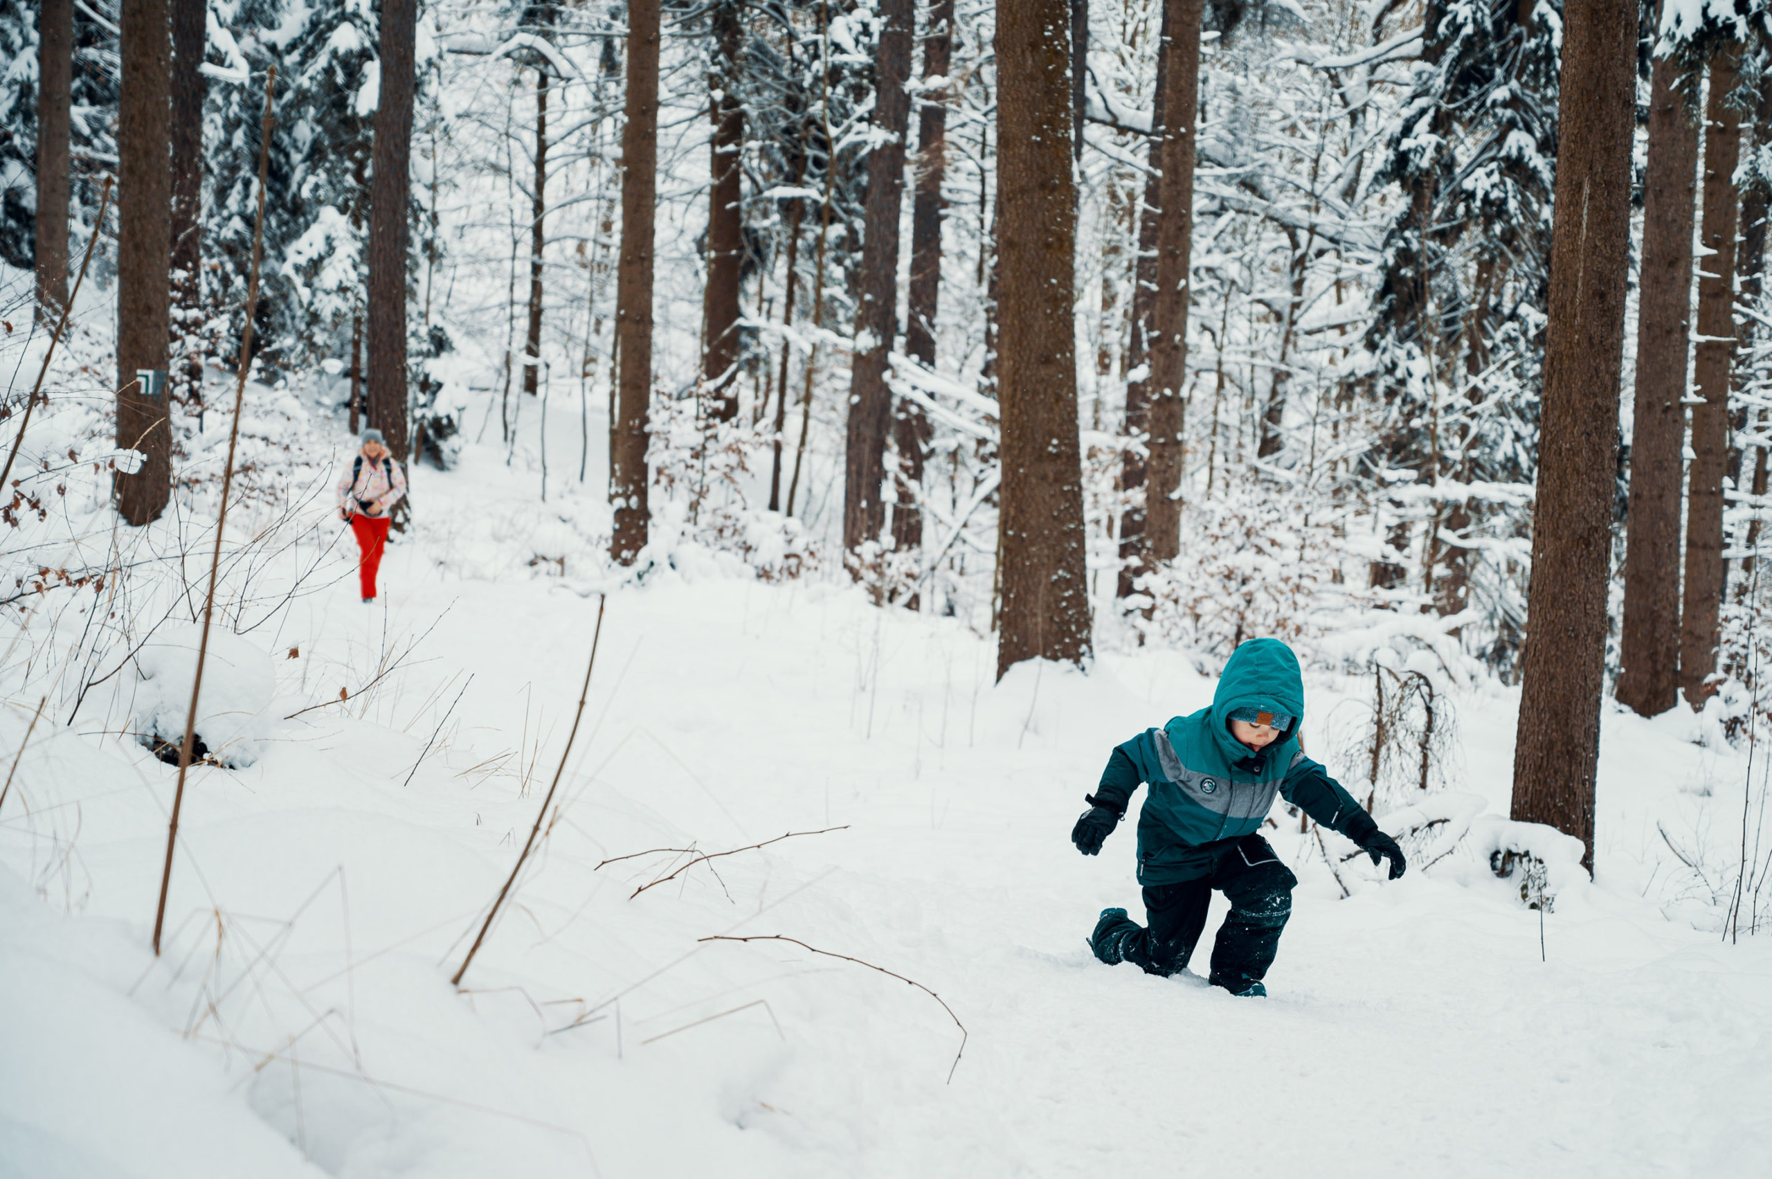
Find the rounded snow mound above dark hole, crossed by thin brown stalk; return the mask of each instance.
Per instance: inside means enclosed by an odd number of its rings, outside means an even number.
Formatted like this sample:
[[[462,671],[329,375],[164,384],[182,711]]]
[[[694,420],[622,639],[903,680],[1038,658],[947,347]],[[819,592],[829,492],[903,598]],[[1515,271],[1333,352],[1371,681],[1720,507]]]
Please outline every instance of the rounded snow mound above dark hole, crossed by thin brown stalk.
[[[202,626],[165,622],[135,654],[133,730],[149,748],[184,741]],[[259,761],[269,727],[276,672],[271,656],[222,626],[209,628],[197,739],[223,766]]]

